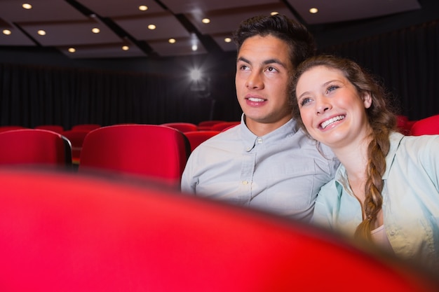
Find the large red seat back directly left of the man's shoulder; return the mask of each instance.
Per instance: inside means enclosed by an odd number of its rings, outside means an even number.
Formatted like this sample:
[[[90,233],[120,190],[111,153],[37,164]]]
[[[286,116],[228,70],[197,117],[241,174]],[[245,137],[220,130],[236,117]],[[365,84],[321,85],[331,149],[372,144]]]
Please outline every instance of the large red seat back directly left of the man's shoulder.
[[[163,179],[180,186],[190,153],[179,130],[161,125],[112,125],[86,136],[79,171],[106,169]]]

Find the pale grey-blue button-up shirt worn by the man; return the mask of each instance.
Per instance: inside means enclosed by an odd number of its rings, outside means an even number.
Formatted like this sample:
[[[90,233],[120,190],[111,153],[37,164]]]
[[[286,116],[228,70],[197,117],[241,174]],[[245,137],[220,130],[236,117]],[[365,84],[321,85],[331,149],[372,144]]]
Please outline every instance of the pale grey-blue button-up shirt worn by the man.
[[[194,149],[182,191],[310,221],[318,190],[338,166],[323,151],[327,158],[295,120],[257,137],[241,119]]]

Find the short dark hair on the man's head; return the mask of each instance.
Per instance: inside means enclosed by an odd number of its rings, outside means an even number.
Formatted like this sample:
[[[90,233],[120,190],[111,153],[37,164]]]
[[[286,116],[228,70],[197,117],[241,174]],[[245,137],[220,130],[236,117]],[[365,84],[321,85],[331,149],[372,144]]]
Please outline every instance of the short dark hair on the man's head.
[[[316,53],[316,44],[308,29],[285,15],[258,15],[241,22],[234,32],[238,53],[246,39],[268,35],[288,43],[293,68],[297,68],[300,62]]]

